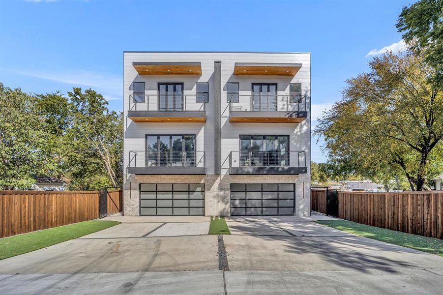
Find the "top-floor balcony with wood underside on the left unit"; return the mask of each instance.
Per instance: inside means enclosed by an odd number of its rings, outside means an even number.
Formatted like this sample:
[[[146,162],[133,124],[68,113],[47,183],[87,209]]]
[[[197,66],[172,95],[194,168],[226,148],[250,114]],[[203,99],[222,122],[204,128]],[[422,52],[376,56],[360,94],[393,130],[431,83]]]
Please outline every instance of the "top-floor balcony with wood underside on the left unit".
[[[129,95],[128,118],[134,122],[206,122],[206,103],[196,94]]]

